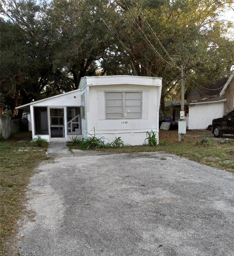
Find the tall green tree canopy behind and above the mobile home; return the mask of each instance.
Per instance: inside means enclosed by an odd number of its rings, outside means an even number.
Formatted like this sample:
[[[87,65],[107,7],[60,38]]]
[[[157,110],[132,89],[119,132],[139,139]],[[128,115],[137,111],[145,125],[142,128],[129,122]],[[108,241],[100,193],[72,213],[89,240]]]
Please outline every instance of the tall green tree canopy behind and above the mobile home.
[[[10,109],[77,89],[87,75],[163,78],[161,103],[230,74],[234,0],[3,0],[1,101]],[[21,112],[14,111],[15,117]]]

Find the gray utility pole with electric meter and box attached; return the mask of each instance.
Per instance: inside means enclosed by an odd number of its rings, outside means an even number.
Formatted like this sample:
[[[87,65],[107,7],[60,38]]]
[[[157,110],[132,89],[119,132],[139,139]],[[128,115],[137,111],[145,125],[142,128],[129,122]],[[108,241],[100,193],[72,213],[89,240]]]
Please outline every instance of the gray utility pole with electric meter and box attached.
[[[184,134],[186,133],[186,121],[184,119],[184,67],[181,65],[181,111],[180,120],[178,122],[179,142],[184,141]]]

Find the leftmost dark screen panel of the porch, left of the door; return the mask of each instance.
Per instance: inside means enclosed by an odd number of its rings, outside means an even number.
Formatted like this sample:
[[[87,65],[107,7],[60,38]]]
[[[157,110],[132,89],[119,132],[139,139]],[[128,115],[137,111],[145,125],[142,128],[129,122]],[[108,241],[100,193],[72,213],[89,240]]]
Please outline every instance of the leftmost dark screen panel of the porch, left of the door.
[[[34,130],[35,135],[48,135],[48,112],[47,107],[34,107]]]

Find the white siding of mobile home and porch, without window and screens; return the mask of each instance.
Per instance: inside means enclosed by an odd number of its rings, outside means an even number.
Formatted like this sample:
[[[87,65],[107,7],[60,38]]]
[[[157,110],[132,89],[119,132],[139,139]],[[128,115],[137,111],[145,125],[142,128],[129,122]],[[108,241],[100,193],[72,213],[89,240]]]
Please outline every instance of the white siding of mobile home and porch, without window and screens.
[[[89,84],[86,83],[88,79]],[[112,142],[115,137],[121,137],[125,144],[140,145],[145,142],[146,132],[154,131],[158,140],[158,117],[161,97],[161,79],[134,76],[113,76],[113,77],[91,77],[82,78],[80,88],[70,93],[48,98],[30,105],[32,136],[34,132],[34,106],[62,107],[66,120],[66,106],[81,106],[81,94],[85,94],[85,119],[82,119],[82,135],[89,134],[104,136],[107,141]],[[142,92],[142,118],[138,119],[105,119],[105,91],[119,92]],[[48,112],[49,120],[49,112]],[[65,122],[65,138],[58,140],[70,140],[67,135]],[[42,138],[51,140],[50,126],[49,135],[41,135]],[[56,138],[57,139],[57,138]],[[53,140],[56,140],[53,138]]]

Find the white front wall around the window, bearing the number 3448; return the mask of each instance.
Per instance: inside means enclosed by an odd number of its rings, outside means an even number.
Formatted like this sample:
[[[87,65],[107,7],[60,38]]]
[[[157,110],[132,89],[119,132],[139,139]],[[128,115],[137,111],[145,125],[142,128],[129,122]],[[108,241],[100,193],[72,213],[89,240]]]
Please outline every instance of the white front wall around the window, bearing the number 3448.
[[[86,87],[88,88],[88,86]],[[147,91],[148,92],[148,118],[146,119],[98,119],[98,91]],[[158,120],[159,104],[161,97],[161,86],[143,85],[105,85],[89,86],[89,100],[86,101],[87,111],[87,132],[97,136],[104,136],[109,142],[115,137],[121,137],[125,144],[142,145],[145,142],[146,131],[153,130],[157,133],[158,141]],[[127,124],[121,122],[127,121]],[[84,134],[83,134],[84,135]]]

